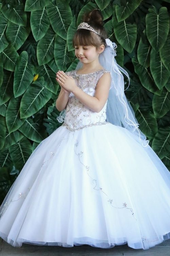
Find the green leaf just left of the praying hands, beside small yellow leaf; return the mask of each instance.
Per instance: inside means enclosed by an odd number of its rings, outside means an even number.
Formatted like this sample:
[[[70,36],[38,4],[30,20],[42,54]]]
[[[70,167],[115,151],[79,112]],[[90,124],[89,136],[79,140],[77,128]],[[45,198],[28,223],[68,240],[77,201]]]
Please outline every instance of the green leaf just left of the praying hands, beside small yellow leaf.
[[[39,66],[36,70],[36,74],[44,77],[45,87],[56,94],[59,84],[56,81],[56,73],[54,73],[47,65]]]

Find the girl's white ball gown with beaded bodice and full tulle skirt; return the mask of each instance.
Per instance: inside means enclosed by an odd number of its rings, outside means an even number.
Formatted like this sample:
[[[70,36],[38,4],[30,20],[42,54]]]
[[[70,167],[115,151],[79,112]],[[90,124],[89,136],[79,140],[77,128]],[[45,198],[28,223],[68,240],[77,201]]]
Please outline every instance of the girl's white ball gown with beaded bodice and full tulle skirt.
[[[66,74],[94,96],[105,72]],[[97,113],[70,93],[64,123],[35,148],[0,207],[7,243],[146,250],[170,238],[170,172],[135,134],[106,122],[106,105]]]

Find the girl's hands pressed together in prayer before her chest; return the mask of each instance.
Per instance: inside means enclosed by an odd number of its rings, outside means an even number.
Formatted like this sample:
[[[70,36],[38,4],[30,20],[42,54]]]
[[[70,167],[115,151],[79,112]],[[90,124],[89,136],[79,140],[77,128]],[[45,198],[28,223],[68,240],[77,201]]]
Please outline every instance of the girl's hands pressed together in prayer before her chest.
[[[66,75],[63,71],[58,71],[56,73],[56,80],[60,86],[68,92],[72,92],[75,86],[77,87],[73,77]]]

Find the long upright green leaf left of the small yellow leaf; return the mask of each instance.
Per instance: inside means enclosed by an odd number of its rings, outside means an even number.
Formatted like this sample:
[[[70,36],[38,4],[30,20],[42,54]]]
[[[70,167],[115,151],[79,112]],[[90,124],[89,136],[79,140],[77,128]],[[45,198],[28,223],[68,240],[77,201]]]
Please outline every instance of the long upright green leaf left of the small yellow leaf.
[[[34,78],[34,67],[29,63],[26,51],[22,52],[17,60],[14,73],[14,96],[22,95]]]

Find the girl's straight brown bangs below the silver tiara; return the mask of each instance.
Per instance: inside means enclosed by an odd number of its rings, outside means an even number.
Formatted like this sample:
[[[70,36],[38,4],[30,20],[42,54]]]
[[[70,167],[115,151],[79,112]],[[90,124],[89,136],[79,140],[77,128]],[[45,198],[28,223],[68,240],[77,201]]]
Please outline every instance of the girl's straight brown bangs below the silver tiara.
[[[73,47],[75,45],[94,45],[99,47],[100,41],[94,32],[87,29],[79,29],[73,37]]]

